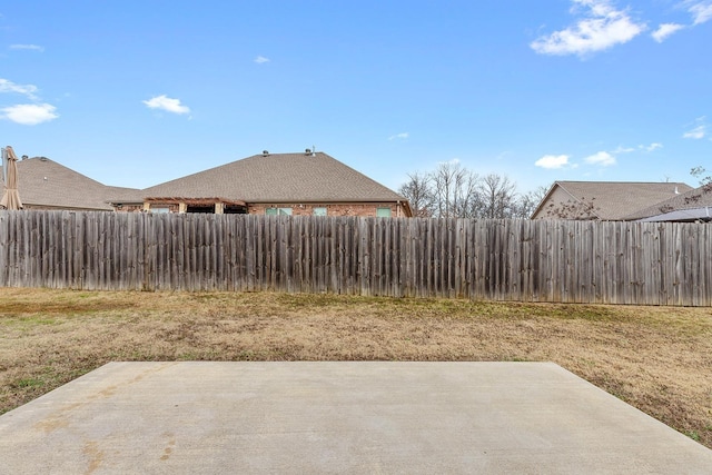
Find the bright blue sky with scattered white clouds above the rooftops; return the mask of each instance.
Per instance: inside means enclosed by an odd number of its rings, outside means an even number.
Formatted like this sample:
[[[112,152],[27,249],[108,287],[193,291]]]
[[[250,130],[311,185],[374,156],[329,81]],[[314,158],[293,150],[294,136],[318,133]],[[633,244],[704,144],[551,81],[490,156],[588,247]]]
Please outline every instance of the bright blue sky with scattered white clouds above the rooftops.
[[[313,147],[393,189],[695,185],[711,44],[712,0],[3,2],[0,142],[137,188]]]

